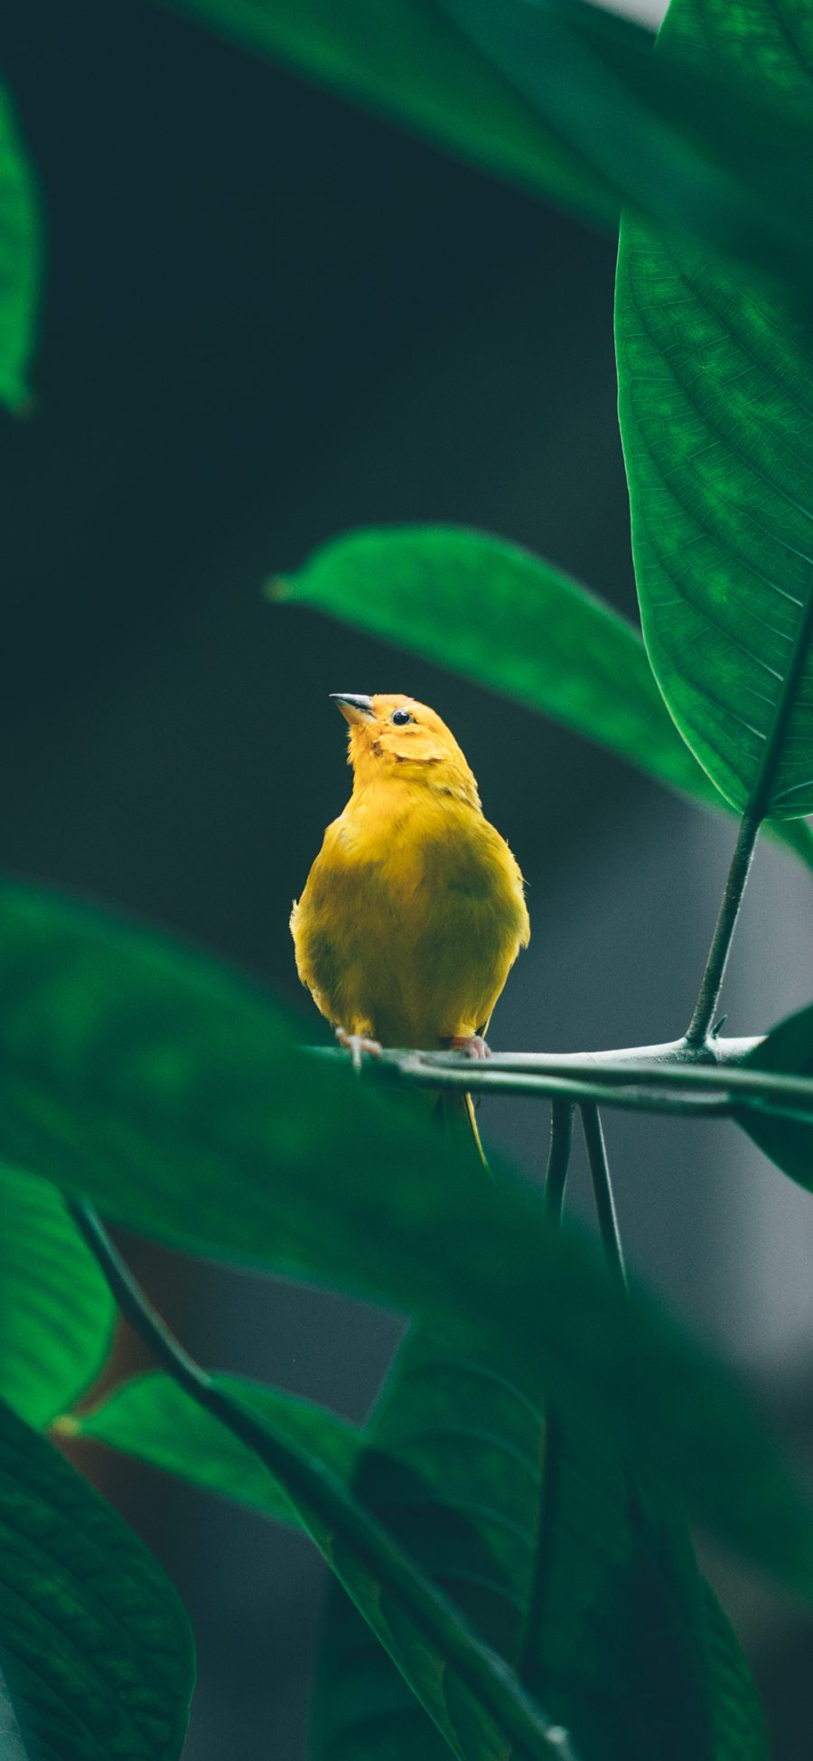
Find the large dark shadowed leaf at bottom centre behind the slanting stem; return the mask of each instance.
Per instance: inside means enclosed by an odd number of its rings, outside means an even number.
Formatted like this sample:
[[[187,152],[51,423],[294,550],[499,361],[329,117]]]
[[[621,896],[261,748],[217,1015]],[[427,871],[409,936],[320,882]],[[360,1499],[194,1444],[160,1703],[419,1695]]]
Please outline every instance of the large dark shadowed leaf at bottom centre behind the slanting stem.
[[[551,1455],[551,1439],[556,1439]],[[595,1433],[546,1425],[505,1379],[410,1335],[357,1497],[447,1588],[590,1761],[711,1756],[700,1580],[669,1557]],[[442,1761],[403,1682],[333,1592],[315,1756]]]

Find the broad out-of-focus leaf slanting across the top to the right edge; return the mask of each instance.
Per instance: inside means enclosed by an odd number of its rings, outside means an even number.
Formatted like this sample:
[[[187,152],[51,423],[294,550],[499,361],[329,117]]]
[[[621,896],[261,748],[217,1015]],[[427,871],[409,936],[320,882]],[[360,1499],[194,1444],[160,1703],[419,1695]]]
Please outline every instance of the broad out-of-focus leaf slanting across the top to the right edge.
[[[169,0],[590,220],[623,204],[809,280],[809,116],[651,65],[581,0]]]

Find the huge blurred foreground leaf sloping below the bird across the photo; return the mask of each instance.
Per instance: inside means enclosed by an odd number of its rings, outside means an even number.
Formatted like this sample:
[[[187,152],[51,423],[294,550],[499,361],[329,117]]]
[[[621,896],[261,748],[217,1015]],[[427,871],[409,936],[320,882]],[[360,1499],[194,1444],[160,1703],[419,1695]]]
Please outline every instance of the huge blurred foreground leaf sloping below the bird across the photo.
[[[472,1176],[262,993],[172,944],[0,889],[0,1153],[111,1219],[414,1312],[813,1594],[813,1525],[755,1412],[540,1196]]]

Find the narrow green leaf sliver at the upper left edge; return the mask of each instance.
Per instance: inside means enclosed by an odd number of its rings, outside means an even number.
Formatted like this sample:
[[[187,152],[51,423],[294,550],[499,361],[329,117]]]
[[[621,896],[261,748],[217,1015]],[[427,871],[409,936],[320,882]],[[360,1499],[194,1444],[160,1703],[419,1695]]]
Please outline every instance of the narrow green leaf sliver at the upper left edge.
[[[33,349],[40,250],[33,174],[0,86],[0,402],[9,410],[30,402],[25,375]]]

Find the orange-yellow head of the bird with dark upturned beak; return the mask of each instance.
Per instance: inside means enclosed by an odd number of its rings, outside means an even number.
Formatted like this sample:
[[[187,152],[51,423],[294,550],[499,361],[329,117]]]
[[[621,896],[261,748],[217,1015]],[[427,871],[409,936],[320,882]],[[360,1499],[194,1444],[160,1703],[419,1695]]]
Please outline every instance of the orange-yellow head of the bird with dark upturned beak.
[[[355,787],[389,778],[424,784],[480,805],[475,778],[445,722],[415,697],[333,692],[350,726],[348,763]]]

